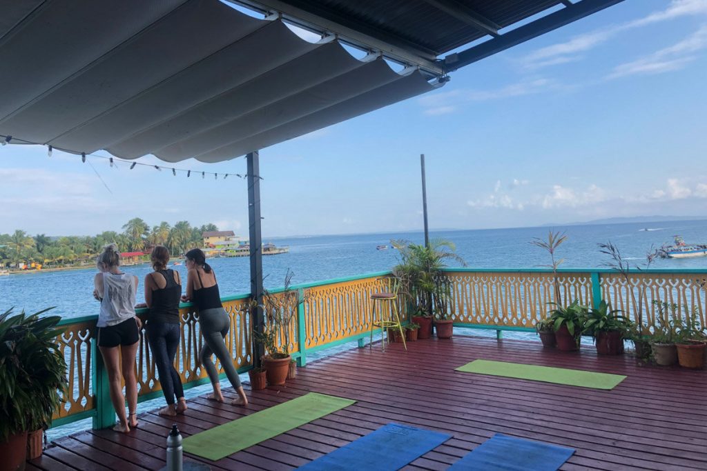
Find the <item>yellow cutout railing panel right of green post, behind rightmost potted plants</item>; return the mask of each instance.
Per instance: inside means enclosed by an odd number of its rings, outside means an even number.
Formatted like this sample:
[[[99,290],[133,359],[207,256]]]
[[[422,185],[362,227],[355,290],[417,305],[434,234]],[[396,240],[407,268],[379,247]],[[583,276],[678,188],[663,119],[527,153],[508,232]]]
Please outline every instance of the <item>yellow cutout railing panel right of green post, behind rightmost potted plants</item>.
[[[638,313],[643,312],[646,332],[655,329],[659,309],[653,301],[677,304],[676,318],[684,317],[686,310],[696,309],[701,326],[707,326],[705,308],[707,292],[704,289],[706,275],[701,273],[631,273],[629,281],[617,273],[602,273],[602,297],[612,309],[620,309],[638,322]],[[672,316],[670,309],[664,313],[663,321]]]

